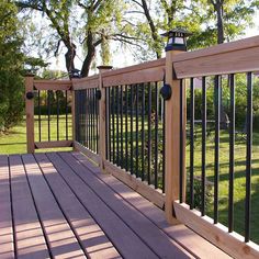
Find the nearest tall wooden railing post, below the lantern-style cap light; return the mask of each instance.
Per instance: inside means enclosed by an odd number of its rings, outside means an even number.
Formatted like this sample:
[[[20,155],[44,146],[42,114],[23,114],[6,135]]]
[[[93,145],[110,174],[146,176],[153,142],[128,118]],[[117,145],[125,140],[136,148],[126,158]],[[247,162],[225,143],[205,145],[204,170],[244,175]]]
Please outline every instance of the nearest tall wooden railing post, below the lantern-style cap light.
[[[180,190],[180,111],[183,114],[183,154],[185,154],[185,88],[183,86],[183,108],[180,108],[180,80],[174,78],[173,56],[182,50],[166,53],[166,83],[171,87],[171,98],[166,101],[166,179],[165,179],[165,213],[170,224],[177,224],[173,201],[179,200]],[[185,158],[183,155],[182,169],[185,179]],[[185,180],[183,179],[183,200],[185,196]]]

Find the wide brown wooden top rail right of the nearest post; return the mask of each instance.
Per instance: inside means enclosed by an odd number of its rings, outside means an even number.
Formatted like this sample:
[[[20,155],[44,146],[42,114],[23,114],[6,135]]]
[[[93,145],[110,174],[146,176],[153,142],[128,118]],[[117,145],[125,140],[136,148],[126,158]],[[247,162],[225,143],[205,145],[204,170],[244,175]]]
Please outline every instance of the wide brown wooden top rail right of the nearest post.
[[[178,79],[259,70],[259,36],[173,57]]]

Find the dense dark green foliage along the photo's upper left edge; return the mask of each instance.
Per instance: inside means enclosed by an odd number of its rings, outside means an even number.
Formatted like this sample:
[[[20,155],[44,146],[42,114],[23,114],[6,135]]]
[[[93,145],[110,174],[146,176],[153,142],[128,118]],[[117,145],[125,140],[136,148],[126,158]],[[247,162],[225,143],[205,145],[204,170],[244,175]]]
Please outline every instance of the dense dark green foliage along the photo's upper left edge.
[[[0,132],[15,125],[23,114],[23,55],[16,8],[0,1]]]

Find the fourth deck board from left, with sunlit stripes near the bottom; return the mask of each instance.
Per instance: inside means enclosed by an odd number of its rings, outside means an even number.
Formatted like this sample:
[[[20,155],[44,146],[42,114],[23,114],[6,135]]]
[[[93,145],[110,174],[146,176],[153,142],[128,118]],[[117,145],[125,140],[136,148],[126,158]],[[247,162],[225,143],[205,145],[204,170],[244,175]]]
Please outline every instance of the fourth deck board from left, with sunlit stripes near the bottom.
[[[120,254],[78,201],[46,155],[37,154],[35,158],[86,254],[91,258],[120,258]]]

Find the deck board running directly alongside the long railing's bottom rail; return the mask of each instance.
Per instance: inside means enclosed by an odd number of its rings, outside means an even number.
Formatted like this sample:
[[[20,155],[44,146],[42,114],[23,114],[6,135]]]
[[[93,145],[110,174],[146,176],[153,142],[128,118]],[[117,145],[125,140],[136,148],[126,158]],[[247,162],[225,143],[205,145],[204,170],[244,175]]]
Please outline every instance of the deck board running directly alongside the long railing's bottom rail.
[[[82,154],[72,153],[72,156],[75,156],[81,165],[87,167],[99,179],[112,188],[119,195],[148,217],[154,224],[156,224],[156,226],[162,229],[180,246],[184,247],[189,252],[199,256],[200,258],[206,258],[207,255],[213,255],[214,258],[230,258],[228,255],[193,233],[191,229],[187,228],[184,225],[169,225],[166,222],[164,212],[160,209],[148,202],[139,193],[123,184],[115,177],[101,173],[100,169],[94,167]]]

